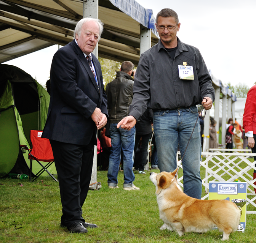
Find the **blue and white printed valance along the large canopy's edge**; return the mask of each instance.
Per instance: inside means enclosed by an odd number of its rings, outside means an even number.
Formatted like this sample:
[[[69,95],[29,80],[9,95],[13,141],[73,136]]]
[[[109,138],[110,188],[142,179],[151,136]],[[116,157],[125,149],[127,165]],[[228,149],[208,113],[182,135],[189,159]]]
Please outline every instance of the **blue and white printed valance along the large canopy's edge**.
[[[152,9],[147,9],[139,5],[135,0],[109,0],[114,6],[119,8],[123,13],[132,17],[143,26],[152,30],[158,36],[155,27],[155,17]]]

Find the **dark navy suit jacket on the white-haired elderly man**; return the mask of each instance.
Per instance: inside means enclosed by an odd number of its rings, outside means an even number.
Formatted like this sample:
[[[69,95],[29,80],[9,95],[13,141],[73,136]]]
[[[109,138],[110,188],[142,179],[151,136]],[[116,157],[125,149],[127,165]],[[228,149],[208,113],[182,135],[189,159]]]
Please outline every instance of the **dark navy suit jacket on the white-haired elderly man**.
[[[51,64],[51,99],[42,137],[87,145],[97,128],[91,114],[96,107],[107,113],[101,65],[92,54],[99,89],[90,66],[75,40],[59,49]]]

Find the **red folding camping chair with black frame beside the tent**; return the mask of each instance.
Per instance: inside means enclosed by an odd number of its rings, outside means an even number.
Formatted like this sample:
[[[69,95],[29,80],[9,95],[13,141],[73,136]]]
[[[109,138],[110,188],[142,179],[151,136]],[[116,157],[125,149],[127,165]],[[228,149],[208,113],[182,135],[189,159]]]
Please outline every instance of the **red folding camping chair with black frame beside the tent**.
[[[31,181],[33,160],[36,160],[37,163],[40,164],[40,166],[42,166],[42,169],[35,175],[34,180],[36,180],[44,171],[46,171],[55,181],[58,181],[47,170],[47,168],[54,162],[53,150],[51,148],[49,139],[41,137],[42,133],[43,131],[40,130],[30,130],[30,141],[32,149],[29,149],[27,145],[19,145],[21,148],[24,148],[29,151],[29,180]],[[43,166],[42,163],[40,163],[40,161],[49,163],[47,164],[47,166]]]

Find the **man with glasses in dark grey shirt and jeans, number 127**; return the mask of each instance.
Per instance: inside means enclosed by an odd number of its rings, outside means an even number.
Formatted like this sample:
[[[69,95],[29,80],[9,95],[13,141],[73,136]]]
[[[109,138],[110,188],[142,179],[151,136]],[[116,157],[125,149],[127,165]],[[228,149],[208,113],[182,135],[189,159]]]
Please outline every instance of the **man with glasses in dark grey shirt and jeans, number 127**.
[[[211,109],[215,95],[211,76],[199,50],[176,36],[178,15],[169,8],[157,14],[158,44],[141,55],[133,86],[130,113],[117,127],[131,129],[147,109],[154,112],[160,171],[176,169],[178,148],[183,156],[198,116],[196,105]],[[182,161],[184,193],[201,199],[199,120]]]

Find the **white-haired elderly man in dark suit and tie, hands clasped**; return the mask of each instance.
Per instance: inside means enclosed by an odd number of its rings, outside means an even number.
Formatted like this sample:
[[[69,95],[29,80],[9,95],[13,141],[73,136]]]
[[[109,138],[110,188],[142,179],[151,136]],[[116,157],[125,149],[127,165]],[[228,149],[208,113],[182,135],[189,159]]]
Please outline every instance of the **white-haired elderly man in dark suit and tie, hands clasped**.
[[[74,40],[59,49],[51,64],[51,99],[42,137],[50,139],[62,203],[61,226],[86,233],[82,206],[88,193],[96,132],[107,123],[107,96],[101,65],[91,53],[103,24],[81,19]]]

